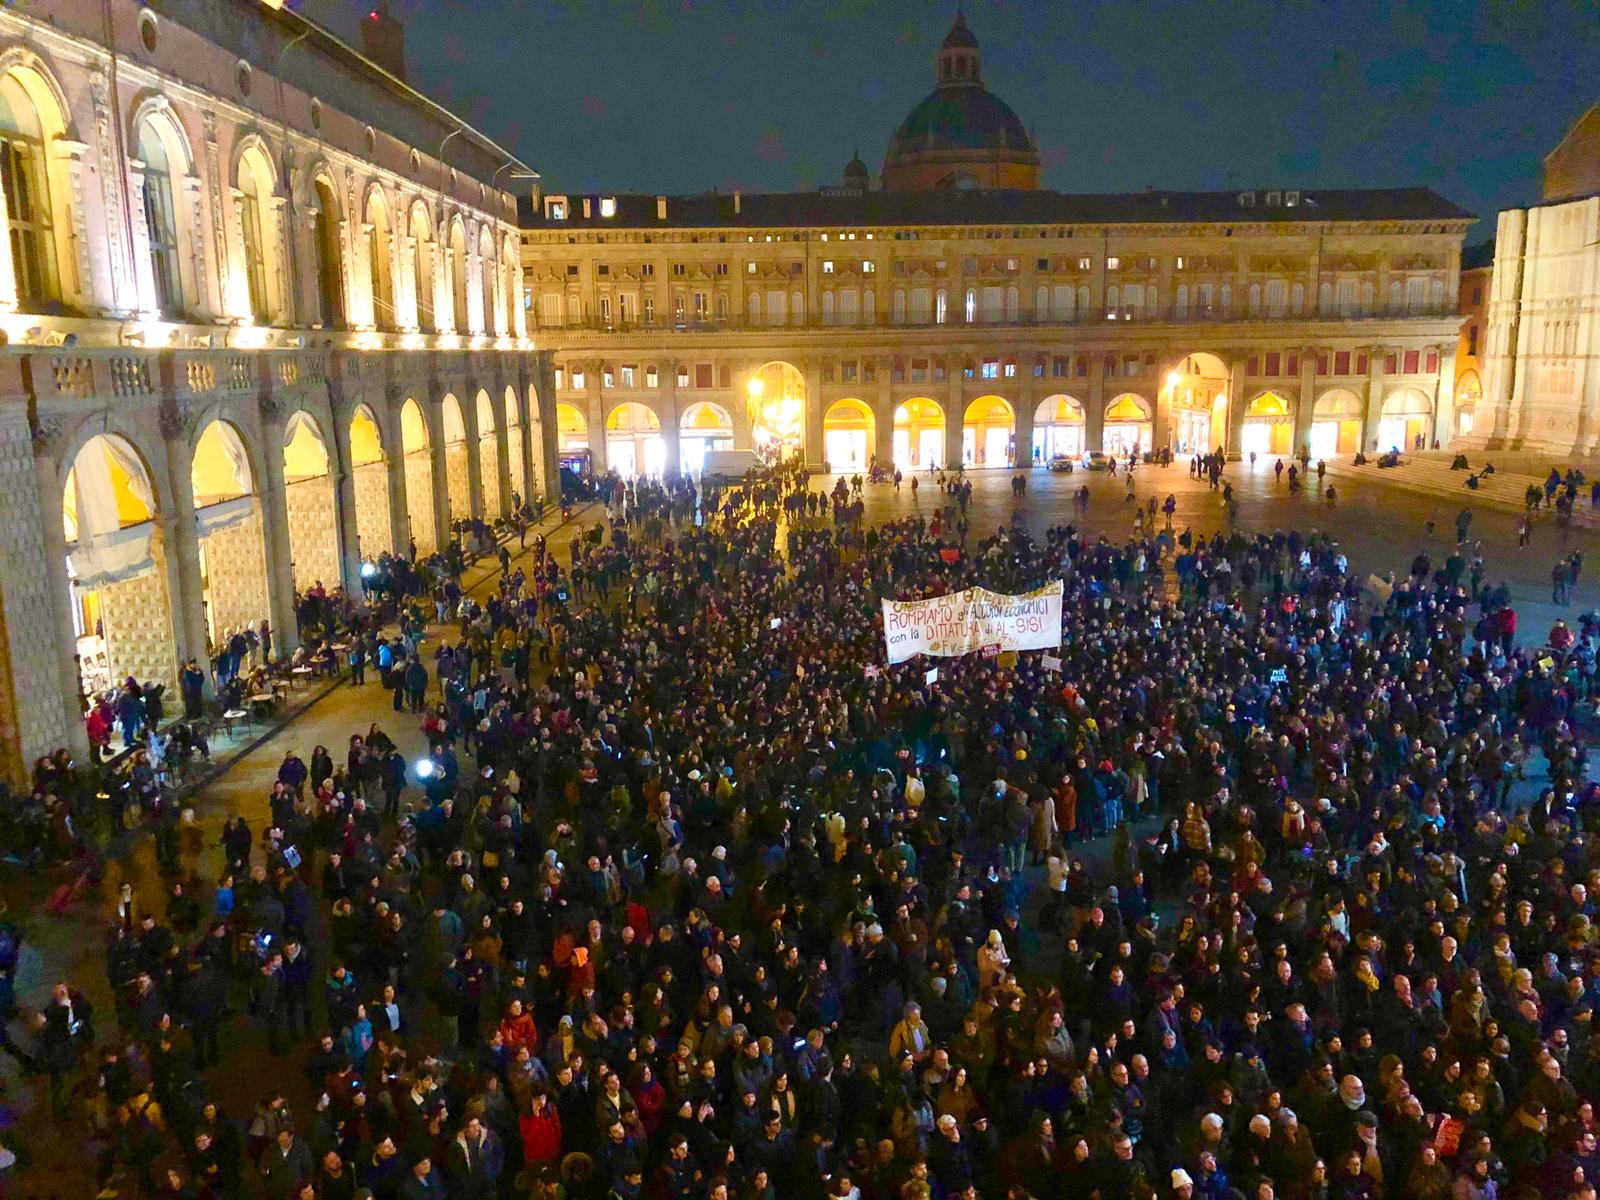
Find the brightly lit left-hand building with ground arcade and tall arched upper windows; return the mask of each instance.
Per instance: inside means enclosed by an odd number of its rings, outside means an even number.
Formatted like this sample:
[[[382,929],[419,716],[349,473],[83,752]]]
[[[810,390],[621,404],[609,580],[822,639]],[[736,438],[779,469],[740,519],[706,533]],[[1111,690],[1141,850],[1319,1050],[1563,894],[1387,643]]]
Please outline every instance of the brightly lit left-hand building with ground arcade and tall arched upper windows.
[[[549,491],[531,171],[296,11],[0,10],[0,160],[5,774],[86,688],[291,646],[296,589]]]

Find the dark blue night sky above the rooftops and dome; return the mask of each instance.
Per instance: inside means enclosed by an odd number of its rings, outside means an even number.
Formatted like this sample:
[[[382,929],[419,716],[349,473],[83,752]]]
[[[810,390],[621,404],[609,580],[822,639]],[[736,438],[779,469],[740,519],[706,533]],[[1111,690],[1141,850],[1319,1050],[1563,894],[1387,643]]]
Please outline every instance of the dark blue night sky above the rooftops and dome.
[[[304,0],[357,38],[368,5]],[[954,3],[392,0],[413,83],[558,190],[835,182],[930,91]],[[1600,101],[1600,8],[974,0],[984,77],[1074,192],[1426,184],[1493,218]],[[1491,221],[1475,234],[1488,235]]]

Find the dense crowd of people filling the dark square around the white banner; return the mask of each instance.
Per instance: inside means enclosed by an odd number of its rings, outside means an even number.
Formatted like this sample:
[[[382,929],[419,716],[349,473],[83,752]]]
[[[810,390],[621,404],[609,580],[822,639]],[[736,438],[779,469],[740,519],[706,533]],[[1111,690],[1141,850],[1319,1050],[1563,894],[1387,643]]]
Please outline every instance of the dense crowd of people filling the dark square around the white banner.
[[[99,1182],[1594,1197],[1592,624],[1518,646],[1461,552],[1373,595],[1318,534],[805,486],[616,486],[483,603],[386,563],[427,757],[290,755],[118,899],[115,1013],[40,1016]],[[1058,651],[882,664],[885,597],[1051,579]]]

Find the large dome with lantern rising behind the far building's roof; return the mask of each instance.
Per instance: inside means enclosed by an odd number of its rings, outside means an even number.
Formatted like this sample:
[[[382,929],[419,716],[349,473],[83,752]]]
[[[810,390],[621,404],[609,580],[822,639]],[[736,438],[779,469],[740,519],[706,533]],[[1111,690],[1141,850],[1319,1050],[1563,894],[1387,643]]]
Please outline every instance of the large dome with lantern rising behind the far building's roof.
[[[960,13],[939,46],[934,85],[890,139],[885,189],[1038,187],[1038,146],[984,86],[978,38]]]

